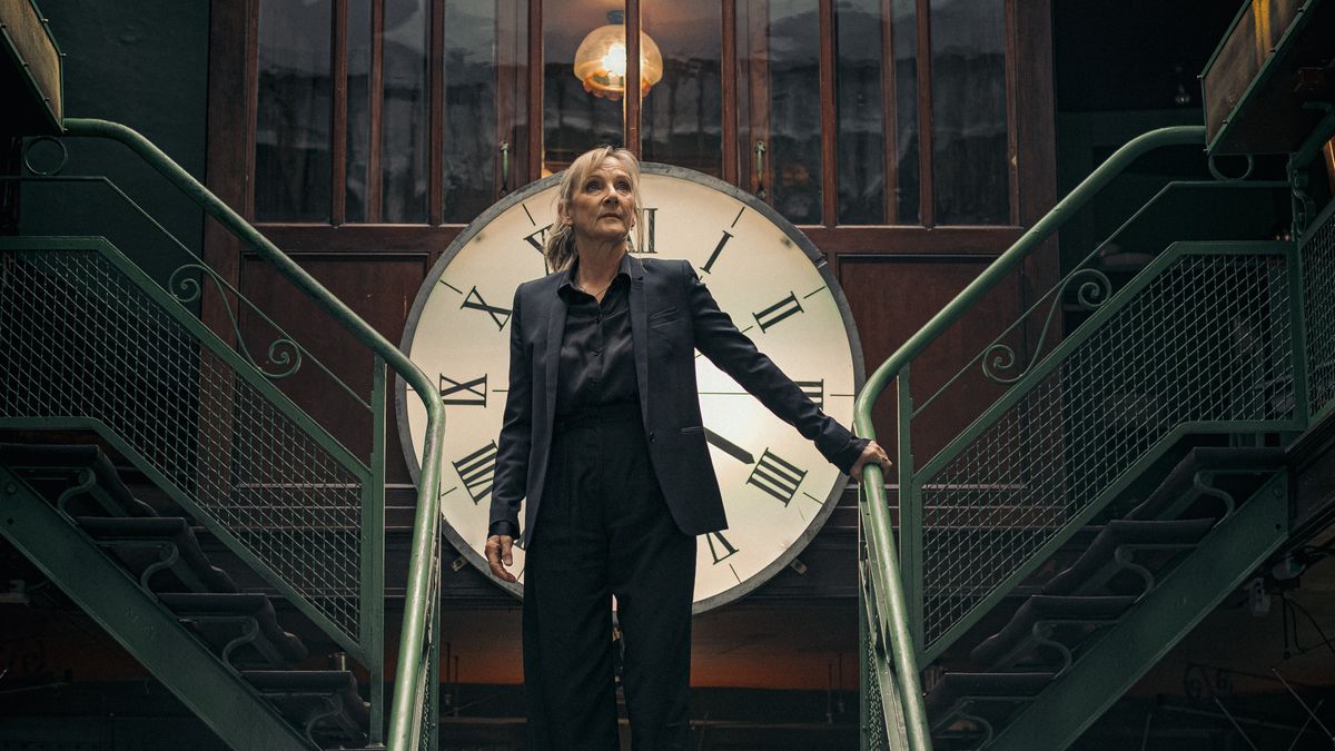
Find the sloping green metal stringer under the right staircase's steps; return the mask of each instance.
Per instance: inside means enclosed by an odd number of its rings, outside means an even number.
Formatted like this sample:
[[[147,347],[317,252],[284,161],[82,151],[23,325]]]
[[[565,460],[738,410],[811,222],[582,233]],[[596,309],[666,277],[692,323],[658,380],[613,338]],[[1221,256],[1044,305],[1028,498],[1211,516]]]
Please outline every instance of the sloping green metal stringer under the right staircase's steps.
[[[988,751],[1056,750],[1073,743],[1288,539],[1288,474],[1280,472],[1101,633]]]

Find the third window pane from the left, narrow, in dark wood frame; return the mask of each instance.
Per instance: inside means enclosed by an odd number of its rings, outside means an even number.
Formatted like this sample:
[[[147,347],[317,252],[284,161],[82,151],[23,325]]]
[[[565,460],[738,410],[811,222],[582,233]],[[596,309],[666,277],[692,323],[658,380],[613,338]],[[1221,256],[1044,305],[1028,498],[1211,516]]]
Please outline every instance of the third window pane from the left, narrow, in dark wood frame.
[[[430,25],[427,0],[384,0],[384,103],[380,111],[380,216],[384,222],[427,220]]]

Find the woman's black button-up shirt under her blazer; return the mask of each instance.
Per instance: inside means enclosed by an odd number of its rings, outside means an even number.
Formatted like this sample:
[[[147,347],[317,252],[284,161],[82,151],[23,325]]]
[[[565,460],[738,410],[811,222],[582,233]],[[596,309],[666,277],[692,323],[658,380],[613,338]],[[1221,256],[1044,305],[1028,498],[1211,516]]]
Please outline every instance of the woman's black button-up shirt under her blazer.
[[[635,346],[630,333],[630,257],[599,302],[575,286],[575,259],[557,287],[566,303],[566,333],[561,341],[557,374],[557,424],[582,409],[639,405]],[[491,535],[517,536],[509,521],[497,521]]]

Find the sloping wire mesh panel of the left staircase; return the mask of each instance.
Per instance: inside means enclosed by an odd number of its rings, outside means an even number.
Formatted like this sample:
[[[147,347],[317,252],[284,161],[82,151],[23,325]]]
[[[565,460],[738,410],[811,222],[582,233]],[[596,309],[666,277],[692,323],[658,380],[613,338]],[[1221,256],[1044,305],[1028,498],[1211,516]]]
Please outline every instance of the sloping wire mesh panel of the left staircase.
[[[4,251],[0,299],[0,418],[103,422],[359,641],[364,473],[97,253]]]

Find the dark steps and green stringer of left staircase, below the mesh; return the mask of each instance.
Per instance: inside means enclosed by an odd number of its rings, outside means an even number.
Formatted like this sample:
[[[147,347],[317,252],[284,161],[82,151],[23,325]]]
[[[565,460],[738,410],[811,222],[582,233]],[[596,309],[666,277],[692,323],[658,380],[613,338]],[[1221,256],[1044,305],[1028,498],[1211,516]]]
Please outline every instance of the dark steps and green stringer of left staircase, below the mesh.
[[[183,518],[160,516],[73,516],[69,505],[96,493],[124,497],[115,478],[96,472],[105,456],[68,449],[96,446],[7,446],[0,457],[4,536],[88,612],[147,669],[159,676],[220,739],[234,748],[303,750],[363,746],[368,720],[347,671],[291,671],[304,647],[274,620],[263,595],[240,593],[226,575],[182,565],[199,556]],[[81,456],[72,456],[81,454]],[[80,461],[83,460],[83,461]],[[57,502],[39,486],[57,484]],[[147,506],[112,501],[91,512],[128,514]],[[156,529],[155,529],[156,528]],[[108,548],[159,552],[139,577],[112,560]],[[127,557],[139,557],[132,553]],[[154,556],[158,557],[158,556]],[[179,579],[160,572],[180,567]],[[199,573],[200,576],[196,576]],[[159,592],[154,580],[188,581],[191,592]],[[182,587],[167,585],[168,589]],[[191,601],[194,599],[194,603]],[[210,643],[214,633],[235,632]],[[224,641],[226,639],[226,641]],[[250,647],[247,656],[242,648]],[[254,668],[263,663],[266,669]],[[286,679],[286,686],[282,683]]]

